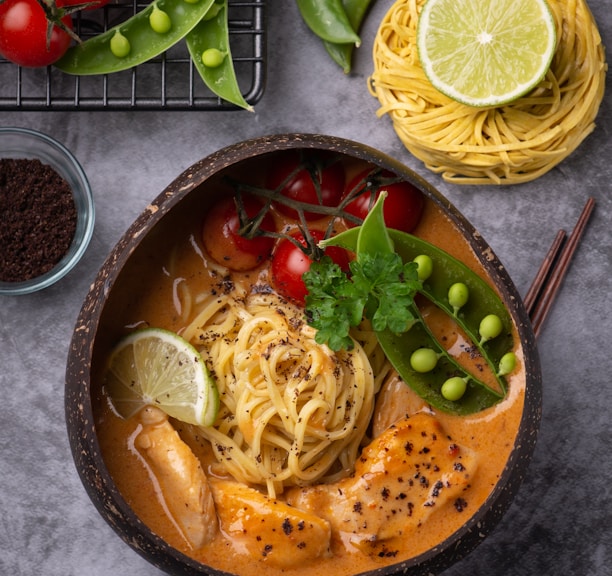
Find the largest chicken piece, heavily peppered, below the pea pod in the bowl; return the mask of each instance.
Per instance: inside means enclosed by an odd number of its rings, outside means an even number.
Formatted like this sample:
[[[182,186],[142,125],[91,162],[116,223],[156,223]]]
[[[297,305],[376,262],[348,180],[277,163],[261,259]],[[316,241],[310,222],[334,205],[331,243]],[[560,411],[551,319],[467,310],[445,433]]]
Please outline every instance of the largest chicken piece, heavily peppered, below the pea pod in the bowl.
[[[471,451],[453,443],[432,415],[419,413],[366,446],[352,476],[292,488],[287,501],[327,519],[335,537],[367,551],[414,532],[446,502],[463,507],[476,466]]]

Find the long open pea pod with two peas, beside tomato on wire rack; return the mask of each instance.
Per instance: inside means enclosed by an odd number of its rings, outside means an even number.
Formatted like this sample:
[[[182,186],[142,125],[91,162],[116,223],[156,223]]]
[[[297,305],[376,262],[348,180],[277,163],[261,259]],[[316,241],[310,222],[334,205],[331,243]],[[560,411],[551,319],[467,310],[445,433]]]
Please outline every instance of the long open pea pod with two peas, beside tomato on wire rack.
[[[202,20],[214,0],[155,0],[131,18],[71,47],[55,66],[68,74],[110,74],[138,66],[182,40]],[[167,24],[160,28],[154,10]],[[156,31],[160,30],[160,31]],[[166,30],[165,32],[163,30]]]

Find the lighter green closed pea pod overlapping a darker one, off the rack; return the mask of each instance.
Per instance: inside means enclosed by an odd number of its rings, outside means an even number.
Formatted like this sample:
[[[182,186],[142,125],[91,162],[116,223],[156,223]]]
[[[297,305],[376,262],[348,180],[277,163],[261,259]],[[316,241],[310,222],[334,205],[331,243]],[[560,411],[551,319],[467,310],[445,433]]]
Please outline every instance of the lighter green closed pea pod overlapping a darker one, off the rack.
[[[355,44],[361,39],[355,32],[342,5],[342,0],[296,0],[308,27],[322,40],[336,44]]]

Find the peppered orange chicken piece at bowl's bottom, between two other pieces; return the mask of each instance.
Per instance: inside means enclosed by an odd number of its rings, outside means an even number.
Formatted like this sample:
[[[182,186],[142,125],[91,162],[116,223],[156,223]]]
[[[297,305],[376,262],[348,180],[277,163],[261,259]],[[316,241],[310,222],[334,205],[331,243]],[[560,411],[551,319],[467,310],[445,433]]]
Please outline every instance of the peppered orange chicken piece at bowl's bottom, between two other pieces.
[[[222,531],[237,550],[281,568],[330,555],[329,523],[233,480],[210,479]]]

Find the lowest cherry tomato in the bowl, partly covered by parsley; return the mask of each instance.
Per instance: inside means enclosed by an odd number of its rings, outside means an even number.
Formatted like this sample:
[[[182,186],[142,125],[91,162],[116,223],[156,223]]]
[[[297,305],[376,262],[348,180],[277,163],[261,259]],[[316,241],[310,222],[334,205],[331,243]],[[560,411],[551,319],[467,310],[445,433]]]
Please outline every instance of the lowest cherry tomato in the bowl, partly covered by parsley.
[[[324,235],[318,230],[311,230],[310,234],[316,242],[323,240]],[[293,235],[293,238],[298,240],[302,246],[307,245],[301,233]],[[325,250],[325,255],[329,256],[342,270],[348,271],[350,258],[344,248],[329,246]],[[302,274],[310,269],[311,264],[312,258],[304,254],[291,240],[286,238],[281,240],[274,250],[270,266],[272,283],[276,291],[285,298],[304,305],[307,290]]]

